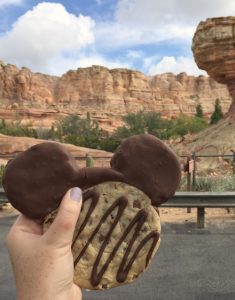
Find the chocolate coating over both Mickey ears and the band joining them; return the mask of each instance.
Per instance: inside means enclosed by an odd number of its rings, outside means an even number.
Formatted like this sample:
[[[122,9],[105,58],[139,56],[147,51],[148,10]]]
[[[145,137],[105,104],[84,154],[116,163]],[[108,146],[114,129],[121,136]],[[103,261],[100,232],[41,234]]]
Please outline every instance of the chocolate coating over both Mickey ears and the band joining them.
[[[30,218],[43,218],[56,209],[71,187],[86,189],[106,181],[131,184],[158,206],[174,194],[180,181],[180,166],[166,145],[143,134],[120,144],[111,159],[111,168],[79,169],[64,147],[45,142],[10,161],[3,175],[7,198]]]

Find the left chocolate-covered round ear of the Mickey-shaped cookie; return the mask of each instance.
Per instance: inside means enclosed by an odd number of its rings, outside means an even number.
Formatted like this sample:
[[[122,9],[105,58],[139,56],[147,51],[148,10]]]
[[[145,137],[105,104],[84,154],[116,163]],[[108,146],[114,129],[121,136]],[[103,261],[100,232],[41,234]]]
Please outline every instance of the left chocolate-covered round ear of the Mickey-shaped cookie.
[[[9,162],[3,187],[11,204],[31,218],[41,218],[56,209],[74,186],[78,166],[58,143],[42,143]]]

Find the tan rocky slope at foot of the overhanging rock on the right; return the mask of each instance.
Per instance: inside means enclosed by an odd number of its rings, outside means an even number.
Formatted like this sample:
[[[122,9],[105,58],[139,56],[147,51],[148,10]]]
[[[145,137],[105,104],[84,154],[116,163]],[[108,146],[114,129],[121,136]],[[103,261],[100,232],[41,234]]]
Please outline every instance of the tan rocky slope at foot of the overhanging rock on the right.
[[[235,123],[229,118],[219,121],[206,130],[188,135],[179,143],[173,142],[171,147],[180,155],[231,155],[231,157],[199,157],[197,173],[232,175],[232,151],[235,151]],[[231,151],[232,150],[232,151]],[[181,159],[181,162],[186,161]]]

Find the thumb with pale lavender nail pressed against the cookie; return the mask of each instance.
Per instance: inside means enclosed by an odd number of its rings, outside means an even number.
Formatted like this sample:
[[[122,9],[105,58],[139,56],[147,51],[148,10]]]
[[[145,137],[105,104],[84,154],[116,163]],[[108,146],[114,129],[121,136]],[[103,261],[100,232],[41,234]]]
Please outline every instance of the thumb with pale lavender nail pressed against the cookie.
[[[82,206],[82,191],[74,187],[64,195],[55,220],[45,233],[48,244],[71,245]]]

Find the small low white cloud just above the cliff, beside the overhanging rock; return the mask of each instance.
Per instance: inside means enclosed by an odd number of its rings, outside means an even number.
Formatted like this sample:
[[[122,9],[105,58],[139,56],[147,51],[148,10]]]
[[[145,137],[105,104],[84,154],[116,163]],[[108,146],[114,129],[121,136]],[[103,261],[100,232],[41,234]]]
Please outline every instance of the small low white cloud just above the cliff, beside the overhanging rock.
[[[206,75],[205,71],[198,69],[193,59],[179,56],[165,56],[157,64],[149,68],[149,75],[172,72],[179,74],[186,72],[188,75]]]

